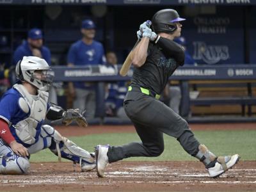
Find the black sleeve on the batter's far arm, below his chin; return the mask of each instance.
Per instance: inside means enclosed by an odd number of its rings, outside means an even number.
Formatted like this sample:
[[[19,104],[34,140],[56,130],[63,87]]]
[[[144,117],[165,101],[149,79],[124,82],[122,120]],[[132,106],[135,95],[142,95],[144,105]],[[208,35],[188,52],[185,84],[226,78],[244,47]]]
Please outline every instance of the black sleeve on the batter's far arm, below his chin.
[[[169,40],[168,38],[158,37],[154,41],[161,49],[163,49],[164,55],[179,63],[179,65],[184,65],[185,51],[184,47]]]

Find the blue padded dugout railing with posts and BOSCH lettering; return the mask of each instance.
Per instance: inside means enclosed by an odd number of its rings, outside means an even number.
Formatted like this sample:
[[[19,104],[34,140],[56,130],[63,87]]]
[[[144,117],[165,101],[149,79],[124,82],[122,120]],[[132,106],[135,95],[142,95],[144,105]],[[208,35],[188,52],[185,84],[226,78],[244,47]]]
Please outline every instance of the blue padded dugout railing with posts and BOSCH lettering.
[[[121,66],[118,66],[121,67]],[[114,81],[129,81],[132,77],[132,69],[125,77],[118,75],[118,71],[111,67],[103,65],[86,67],[52,67],[54,71],[54,81],[91,81],[97,82],[97,111],[101,123],[111,124],[111,118],[105,116],[104,106],[104,83]],[[200,66],[200,67],[180,67],[170,77],[170,80],[179,81],[182,92],[180,104],[180,115],[187,118],[189,122],[255,122],[256,118],[252,115],[252,106],[256,105],[256,97],[252,93],[252,88],[256,82],[256,65],[221,65],[221,66]],[[247,95],[241,97],[198,97],[190,99],[189,82],[191,81],[243,81],[242,86],[246,86]],[[222,86],[225,86],[223,84]],[[191,105],[210,106],[214,104],[239,104],[242,107],[242,113],[239,117],[211,117],[211,116],[191,116],[189,111]],[[248,114],[245,112],[245,106],[248,106]],[[104,121],[105,119],[105,121]],[[98,121],[97,121],[98,122]],[[118,122],[113,118],[116,124],[126,124],[127,122]]]

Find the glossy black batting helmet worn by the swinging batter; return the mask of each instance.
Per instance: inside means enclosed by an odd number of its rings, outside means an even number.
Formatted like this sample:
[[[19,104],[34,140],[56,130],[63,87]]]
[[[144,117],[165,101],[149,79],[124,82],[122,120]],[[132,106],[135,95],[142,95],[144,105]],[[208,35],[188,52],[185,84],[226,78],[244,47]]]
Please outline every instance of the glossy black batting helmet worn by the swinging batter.
[[[177,29],[175,22],[186,20],[172,9],[160,10],[152,18],[152,28],[156,33],[173,33]]]

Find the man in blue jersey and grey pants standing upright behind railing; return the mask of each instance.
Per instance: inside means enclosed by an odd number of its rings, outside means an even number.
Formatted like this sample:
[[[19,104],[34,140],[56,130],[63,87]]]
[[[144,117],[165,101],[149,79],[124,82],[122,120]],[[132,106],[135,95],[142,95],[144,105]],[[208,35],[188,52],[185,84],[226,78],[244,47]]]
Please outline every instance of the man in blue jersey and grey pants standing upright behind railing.
[[[104,48],[100,42],[94,40],[95,24],[92,20],[83,20],[81,33],[83,38],[71,45],[68,51],[68,66],[86,66],[106,64]],[[88,82],[68,83],[68,91],[74,98],[73,108],[82,111],[86,109],[86,116],[93,118],[96,108],[95,84]]]

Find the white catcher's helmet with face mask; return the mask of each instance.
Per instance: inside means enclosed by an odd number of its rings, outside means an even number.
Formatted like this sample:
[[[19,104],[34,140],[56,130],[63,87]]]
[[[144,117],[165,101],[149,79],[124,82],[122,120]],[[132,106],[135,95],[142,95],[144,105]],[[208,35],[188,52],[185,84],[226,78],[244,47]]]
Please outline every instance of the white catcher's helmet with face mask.
[[[41,78],[35,76],[35,70],[42,71]],[[49,91],[52,83],[53,74],[50,71],[51,67],[49,67],[48,63],[44,59],[35,56],[24,56],[22,60],[18,61],[15,68],[17,79],[27,81],[36,88],[44,91]]]

